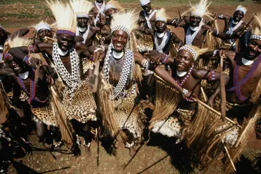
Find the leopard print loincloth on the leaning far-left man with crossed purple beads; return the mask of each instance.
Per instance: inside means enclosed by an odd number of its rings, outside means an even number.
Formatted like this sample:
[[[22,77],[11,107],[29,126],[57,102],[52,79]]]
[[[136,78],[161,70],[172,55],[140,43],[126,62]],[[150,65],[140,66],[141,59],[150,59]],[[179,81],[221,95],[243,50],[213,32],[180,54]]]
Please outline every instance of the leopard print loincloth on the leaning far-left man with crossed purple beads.
[[[33,113],[33,120],[35,122],[43,122],[45,125],[57,126],[57,120],[54,118],[50,104],[47,107],[31,108],[31,113]]]

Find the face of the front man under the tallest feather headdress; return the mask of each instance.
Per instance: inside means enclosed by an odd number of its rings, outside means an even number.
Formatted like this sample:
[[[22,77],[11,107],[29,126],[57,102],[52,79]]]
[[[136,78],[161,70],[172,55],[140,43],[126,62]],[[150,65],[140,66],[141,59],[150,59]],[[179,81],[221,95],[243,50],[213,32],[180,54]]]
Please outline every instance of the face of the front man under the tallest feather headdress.
[[[65,52],[68,49],[73,47],[74,37],[71,35],[60,33],[57,35],[57,43],[58,43],[59,49],[61,49],[63,52]]]

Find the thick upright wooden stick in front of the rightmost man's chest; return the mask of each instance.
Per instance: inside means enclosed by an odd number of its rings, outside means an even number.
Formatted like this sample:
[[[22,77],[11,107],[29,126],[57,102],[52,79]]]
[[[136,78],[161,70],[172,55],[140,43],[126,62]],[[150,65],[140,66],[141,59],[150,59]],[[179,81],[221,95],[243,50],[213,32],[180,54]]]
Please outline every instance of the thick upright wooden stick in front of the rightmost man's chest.
[[[223,59],[224,55],[221,56],[221,78],[220,78],[220,85],[221,85],[221,118],[224,121],[227,113],[227,100],[225,97],[225,81],[224,81],[224,74],[223,74]]]

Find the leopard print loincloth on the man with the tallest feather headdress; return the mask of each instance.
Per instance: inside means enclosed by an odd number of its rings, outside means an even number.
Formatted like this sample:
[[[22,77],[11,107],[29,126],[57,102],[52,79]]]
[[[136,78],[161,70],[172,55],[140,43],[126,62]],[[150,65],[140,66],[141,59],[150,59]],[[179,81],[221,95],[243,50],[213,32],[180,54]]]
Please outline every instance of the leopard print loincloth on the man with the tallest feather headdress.
[[[66,94],[68,96],[68,94]],[[82,81],[82,85],[78,88],[72,99],[65,101],[66,116],[69,120],[77,120],[85,123],[89,120],[96,121],[96,103],[94,94],[91,93],[88,81]]]

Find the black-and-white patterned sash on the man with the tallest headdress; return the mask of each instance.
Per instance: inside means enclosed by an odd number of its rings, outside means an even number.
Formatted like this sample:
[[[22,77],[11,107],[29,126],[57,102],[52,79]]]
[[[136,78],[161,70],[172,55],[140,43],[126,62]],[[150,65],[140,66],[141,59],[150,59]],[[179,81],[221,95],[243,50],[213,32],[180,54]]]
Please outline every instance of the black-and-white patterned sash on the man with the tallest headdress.
[[[73,97],[73,93],[77,88],[80,87],[81,79],[80,79],[80,58],[75,51],[75,49],[70,49],[70,64],[71,64],[71,70],[72,74],[70,74],[65,66],[64,63],[61,61],[61,57],[58,52],[58,44],[57,42],[54,42],[54,46],[52,49],[52,58],[54,60],[54,68],[59,73],[59,76],[61,79],[65,82],[66,88],[68,88],[68,93],[70,95],[70,98]]]

